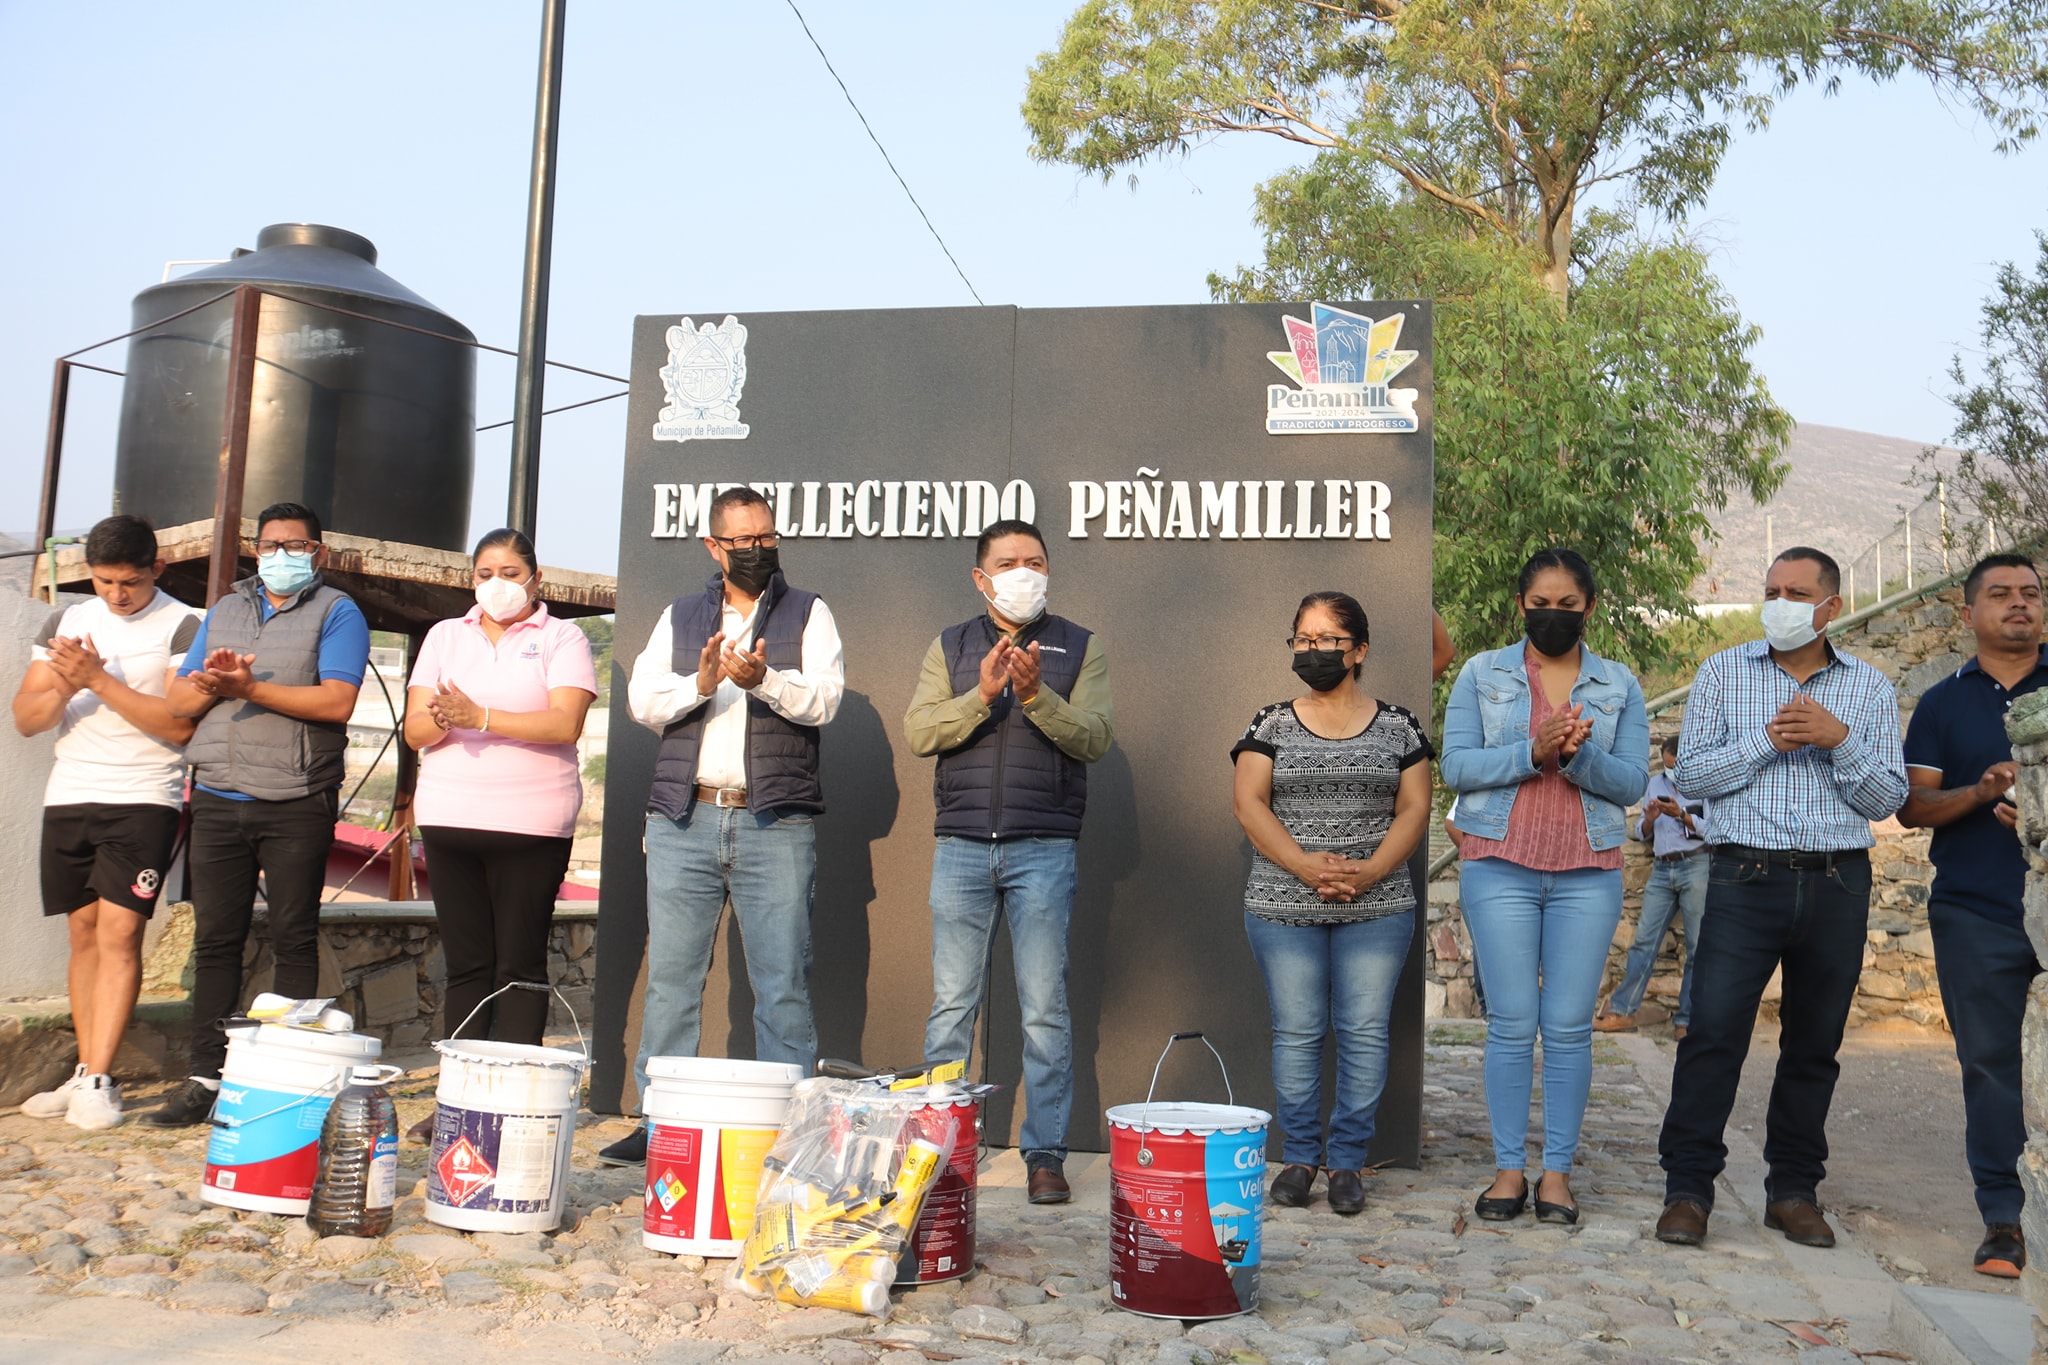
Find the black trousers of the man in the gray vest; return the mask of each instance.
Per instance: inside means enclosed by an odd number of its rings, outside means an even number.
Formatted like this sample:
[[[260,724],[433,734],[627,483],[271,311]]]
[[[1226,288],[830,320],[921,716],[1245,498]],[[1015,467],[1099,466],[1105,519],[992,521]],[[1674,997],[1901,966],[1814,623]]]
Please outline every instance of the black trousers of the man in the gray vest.
[[[193,1074],[219,1076],[242,1005],[242,952],[256,913],[256,874],[270,909],[270,988],[295,1001],[319,990],[319,888],[328,880],[338,792],[297,800],[227,800],[193,792]]]

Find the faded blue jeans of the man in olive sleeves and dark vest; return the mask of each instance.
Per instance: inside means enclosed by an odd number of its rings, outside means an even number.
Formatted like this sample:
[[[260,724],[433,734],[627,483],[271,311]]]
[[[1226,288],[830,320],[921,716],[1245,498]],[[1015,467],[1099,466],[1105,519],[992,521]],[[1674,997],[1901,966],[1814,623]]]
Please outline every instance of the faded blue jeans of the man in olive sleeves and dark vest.
[[[1024,1160],[1067,1160],[1073,1109],[1073,1021],[1067,1013],[1067,919],[1073,913],[1073,839],[940,835],[932,853],[932,1017],[928,1062],[975,1048],[981,984],[995,921],[1010,921],[1018,1007],[1024,1015]]]

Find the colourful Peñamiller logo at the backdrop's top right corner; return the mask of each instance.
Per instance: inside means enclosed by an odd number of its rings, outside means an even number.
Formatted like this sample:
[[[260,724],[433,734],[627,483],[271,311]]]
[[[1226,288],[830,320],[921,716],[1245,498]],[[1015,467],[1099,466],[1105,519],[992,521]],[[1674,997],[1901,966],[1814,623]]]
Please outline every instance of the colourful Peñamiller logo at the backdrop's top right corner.
[[[1417,356],[1413,350],[1395,350],[1407,315],[1389,313],[1374,321],[1327,303],[1311,305],[1309,315],[1313,323],[1282,317],[1288,350],[1266,352],[1268,360],[1300,385],[1266,389],[1266,432],[1313,436],[1417,430],[1415,389],[1389,387]]]

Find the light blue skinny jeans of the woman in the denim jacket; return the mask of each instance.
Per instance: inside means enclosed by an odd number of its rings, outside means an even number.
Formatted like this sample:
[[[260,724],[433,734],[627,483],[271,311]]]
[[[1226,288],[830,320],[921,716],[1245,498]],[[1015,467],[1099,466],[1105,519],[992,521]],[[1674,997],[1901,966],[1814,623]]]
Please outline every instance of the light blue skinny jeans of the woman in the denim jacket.
[[[1542,1169],[1571,1175],[1593,1089],[1593,1003],[1622,923],[1620,870],[1536,872],[1503,857],[1458,870],[1458,902],[1487,974],[1487,1113],[1493,1164],[1528,1164],[1542,1036]]]

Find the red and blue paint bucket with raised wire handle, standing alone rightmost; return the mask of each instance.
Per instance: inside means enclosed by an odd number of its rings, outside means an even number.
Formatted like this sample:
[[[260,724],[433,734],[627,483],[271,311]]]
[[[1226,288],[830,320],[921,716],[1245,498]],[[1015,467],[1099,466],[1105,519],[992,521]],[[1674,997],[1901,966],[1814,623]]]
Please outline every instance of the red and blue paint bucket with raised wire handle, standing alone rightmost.
[[[1176,1033],[1167,1050],[1184,1038],[1202,1036]],[[1206,1038],[1202,1044],[1214,1052]],[[1184,1320],[1257,1308],[1272,1115],[1237,1103],[1155,1103],[1147,1093],[1143,1105],[1118,1105],[1106,1117],[1110,1302],[1149,1318]]]

